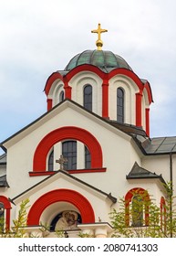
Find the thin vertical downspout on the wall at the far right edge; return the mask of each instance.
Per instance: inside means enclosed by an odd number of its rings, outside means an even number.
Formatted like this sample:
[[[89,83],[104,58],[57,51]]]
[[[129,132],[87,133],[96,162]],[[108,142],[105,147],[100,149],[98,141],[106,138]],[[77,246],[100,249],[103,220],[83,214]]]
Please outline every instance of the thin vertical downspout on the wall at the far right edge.
[[[172,196],[173,196],[173,171],[172,171],[172,154],[170,154],[170,217],[171,217],[171,227],[170,227],[170,235],[172,238]]]

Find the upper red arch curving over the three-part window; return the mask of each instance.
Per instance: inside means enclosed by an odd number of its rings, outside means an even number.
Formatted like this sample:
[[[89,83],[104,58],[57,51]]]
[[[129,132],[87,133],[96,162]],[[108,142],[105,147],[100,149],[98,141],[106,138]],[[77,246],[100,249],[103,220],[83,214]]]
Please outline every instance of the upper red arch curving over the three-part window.
[[[91,155],[91,168],[102,167],[102,150],[98,140],[84,129],[66,126],[48,133],[37,145],[33,161],[33,171],[46,171],[47,154],[50,148],[57,144],[57,142],[66,139],[75,139],[86,144]]]

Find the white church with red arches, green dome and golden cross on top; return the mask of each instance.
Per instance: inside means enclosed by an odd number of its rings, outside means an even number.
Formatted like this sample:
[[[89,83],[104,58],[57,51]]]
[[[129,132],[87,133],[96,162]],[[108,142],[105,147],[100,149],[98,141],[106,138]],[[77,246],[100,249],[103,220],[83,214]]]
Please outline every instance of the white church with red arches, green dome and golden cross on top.
[[[176,185],[176,137],[150,137],[150,81],[103,50],[107,31],[98,24],[91,31],[98,35],[97,48],[78,53],[48,77],[47,112],[1,142],[5,229],[12,228],[26,198],[28,236],[42,236],[45,223],[47,237],[66,230],[69,238],[80,232],[109,238],[109,213],[124,197],[129,215],[134,192],[147,191],[162,214],[163,184]]]

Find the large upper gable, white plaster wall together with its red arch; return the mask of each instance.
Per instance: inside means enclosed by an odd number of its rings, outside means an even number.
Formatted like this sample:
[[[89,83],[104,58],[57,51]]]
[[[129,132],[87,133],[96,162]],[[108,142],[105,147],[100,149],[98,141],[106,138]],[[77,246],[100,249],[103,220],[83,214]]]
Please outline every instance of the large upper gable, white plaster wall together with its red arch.
[[[130,132],[133,130],[131,129],[132,127],[129,129]],[[78,104],[63,101],[36,120],[36,123],[31,123],[4,142],[8,149],[7,180],[9,186],[15,189],[16,195],[43,180],[44,175],[53,174],[47,169],[48,155],[53,147],[55,149],[54,171],[58,170],[56,160],[61,155],[61,144],[65,140],[78,141],[78,146],[82,149],[84,145],[88,147],[91,155],[90,169],[85,170],[82,157],[78,157],[77,174],[82,180],[102,190],[107,186],[110,187],[107,185],[107,179],[112,176],[112,173],[115,177],[114,181],[116,178],[119,179],[119,173],[114,172],[114,168],[121,169],[120,176],[123,175],[125,178],[125,171],[129,170],[131,162],[140,161],[140,156],[131,144],[132,138],[129,134],[120,131],[114,123],[98,118],[97,115],[86,111]],[[109,150],[112,148],[113,151],[109,155]],[[126,155],[125,164],[124,155]],[[91,173],[91,176],[84,175],[84,172]],[[97,174],[94,174],[95,178],[92,179],[92,174],[95,172]],[[106,175],[101,175],[102,182],[98,183],[98,173],[102,174],[102,172]],[[16,187],[16,183],[20,183],[20,187]],[[9,190],[9,193],[10,191],[12,190]],[[10,194],[9,197],[11,197]]]

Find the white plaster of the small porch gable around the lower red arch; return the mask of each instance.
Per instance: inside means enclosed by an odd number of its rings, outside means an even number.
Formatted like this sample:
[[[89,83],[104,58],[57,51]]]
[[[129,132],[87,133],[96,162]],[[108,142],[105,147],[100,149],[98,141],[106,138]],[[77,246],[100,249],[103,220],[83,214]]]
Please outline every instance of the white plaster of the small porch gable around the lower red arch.
[[[70,187],[71,182],[71,187]],[[83,184],[79,184],[78,182],[75,182],[74,180],[68,178],[67,176],[59,176],[58,178],[55,176],[55,180],[53,178],[52,183],[48,180],[47,183],[42,184],[41,186],[37,187],[37,190],[34,190],[33,193],[26,194],[26,197],[29,198],[29,205],[30,207],[27,208],[27,212],[30,210],[31,206],[35,203],[36,198],[43,196],[49,191],[59,189],[59,188],[65,188],[65,189],[72,189],[83,195],[84,197],[87,197],[88,202],[91,204],[94,213],[95,213],[95,219],[98,221],[98,217],[102,219],[102,221],[107,221],[109,219],[109,210],[110,205],[112,204],[111,201],[106,199],[106,196],[102,195],[101,193],[95,191],[92,188],[86,187]],[[34,193],[35,192],[35,193]],[[24,197],[25,198],[25,197]],[[24,199],[23,197],[20,197],[21,200]],[[59,208],[58,208],[59,207]],[[54,218],[58,212],[63,211],[67,208],[77,210],[76,207],[74,207],[71,204],[64,203],[55,203],[47,208],[47,210],[42,214],[41,221],[42,222],[49,222],[52,218]],[[16,213],[18,212],[18,209],[20,208],[20,200],[19,202],[16,201]],[[16,216],[17,217],[17,216]]]

